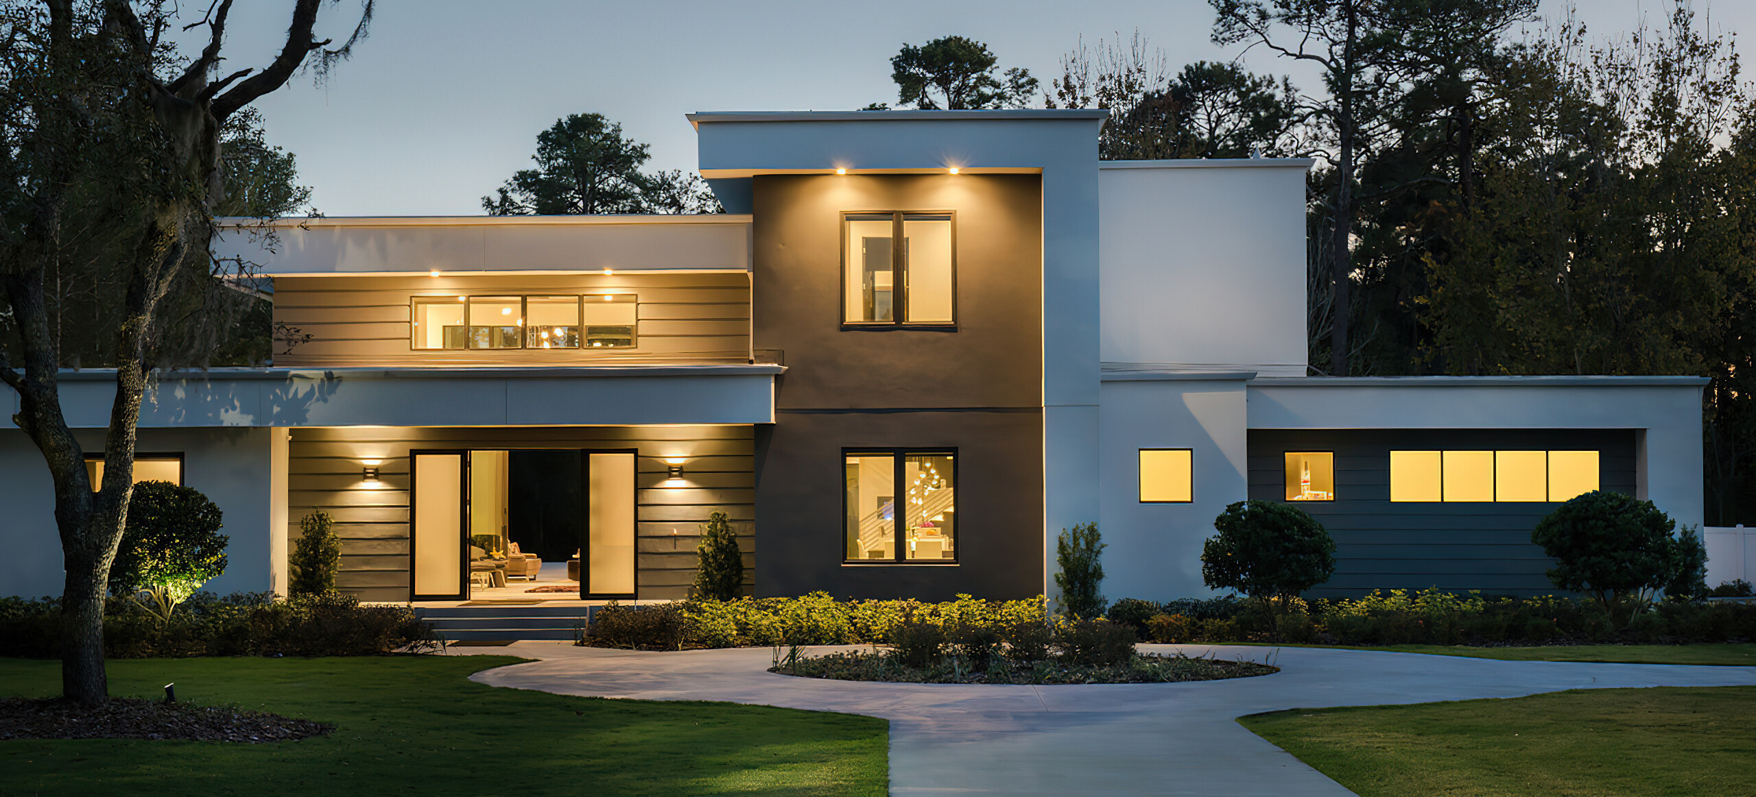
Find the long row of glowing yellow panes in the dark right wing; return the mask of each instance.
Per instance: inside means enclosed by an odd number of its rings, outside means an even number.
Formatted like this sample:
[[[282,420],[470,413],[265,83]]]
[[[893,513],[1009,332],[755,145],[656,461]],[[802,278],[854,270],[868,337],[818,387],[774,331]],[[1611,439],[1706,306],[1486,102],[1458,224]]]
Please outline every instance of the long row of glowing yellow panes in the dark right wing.
[[[1598,451],[1391,451],[1393,502],[1558,504],[1598,481]]]

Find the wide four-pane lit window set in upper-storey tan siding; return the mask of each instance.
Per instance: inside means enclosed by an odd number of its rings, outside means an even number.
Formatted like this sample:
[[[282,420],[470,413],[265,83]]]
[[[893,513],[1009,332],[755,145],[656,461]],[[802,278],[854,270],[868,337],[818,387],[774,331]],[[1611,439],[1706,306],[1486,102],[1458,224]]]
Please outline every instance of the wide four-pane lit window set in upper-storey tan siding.
[[[632,293],[414,297],[416,349],[632,349]]]

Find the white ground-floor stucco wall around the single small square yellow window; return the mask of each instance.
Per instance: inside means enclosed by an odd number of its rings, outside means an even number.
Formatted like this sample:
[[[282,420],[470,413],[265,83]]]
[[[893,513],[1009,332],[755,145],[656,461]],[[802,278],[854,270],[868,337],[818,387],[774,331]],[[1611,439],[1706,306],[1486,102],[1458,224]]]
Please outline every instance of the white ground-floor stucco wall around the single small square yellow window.
[[[1201,542],[1226,504],[1247,497],[1245,413],[1241,379],[1105,379],[1098,530],[1110,544],[1103,592],[1112,600],[1212,593],[1201,583]],[[1140,502],[1141,448],[1192,449],[1194,502]]]

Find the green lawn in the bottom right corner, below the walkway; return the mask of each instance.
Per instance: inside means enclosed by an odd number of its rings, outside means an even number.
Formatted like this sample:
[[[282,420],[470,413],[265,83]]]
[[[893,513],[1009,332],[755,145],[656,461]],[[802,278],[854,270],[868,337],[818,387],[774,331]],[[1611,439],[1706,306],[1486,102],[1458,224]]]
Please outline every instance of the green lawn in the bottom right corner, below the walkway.
[[[1572,690],[1238,722],[1361,797],[1756,793],[1756,686]]]

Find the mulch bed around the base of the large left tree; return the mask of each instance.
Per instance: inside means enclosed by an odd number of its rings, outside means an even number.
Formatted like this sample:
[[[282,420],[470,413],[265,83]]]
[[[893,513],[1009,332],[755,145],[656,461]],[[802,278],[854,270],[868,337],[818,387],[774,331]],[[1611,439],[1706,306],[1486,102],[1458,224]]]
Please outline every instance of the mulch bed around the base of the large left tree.
[[[227,706],[112,697],[84,707],[60,697],[0,699],[0,739],[195,739],[262,744],[327,736],[334,725]]]

